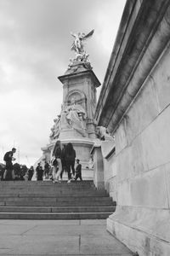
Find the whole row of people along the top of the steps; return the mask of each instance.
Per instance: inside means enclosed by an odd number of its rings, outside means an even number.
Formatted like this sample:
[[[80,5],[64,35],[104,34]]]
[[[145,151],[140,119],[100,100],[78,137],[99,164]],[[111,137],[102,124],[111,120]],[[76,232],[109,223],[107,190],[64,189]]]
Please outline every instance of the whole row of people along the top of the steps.
[[[31,180],[34,174],[34,168],[27,168],[25,165],[21,166],[18,163],[14,163],[14,153],[16,148],[12,148],[4,154],[3,160],[6,165],[1,171],[1,180]],[[45,178],[51,178],[54,183],[60,183],[63,177],[63,173],[66,172],[68,175],[68,183],[71,180],[76,180],[80,178],[82,181],[82,165],[80,160],[76,160],[76,151],[72,146],[72,143],[63,145],[61,148],[61,143],[58,140],[54,145],[53,159],[51,163],[45,161],[44,167],[42,168],[41,163],[37,164],[36,177],[37,180],[43,180]],[[75,168],[76,162],[76,168]]]

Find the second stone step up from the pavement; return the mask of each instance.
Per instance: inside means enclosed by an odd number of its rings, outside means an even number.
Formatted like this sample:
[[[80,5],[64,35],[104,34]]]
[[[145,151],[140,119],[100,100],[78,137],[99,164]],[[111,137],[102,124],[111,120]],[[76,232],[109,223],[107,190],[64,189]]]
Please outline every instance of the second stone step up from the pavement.
[[[109,207],[0,207],[0,212],[114,212],[115,206]]]

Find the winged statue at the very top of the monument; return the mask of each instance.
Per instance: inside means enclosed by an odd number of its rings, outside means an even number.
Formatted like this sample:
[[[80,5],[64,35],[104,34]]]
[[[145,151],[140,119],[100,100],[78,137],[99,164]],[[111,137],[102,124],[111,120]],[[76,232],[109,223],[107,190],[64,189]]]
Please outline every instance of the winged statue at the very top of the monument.
[[[78,32],[73,33],[71,32],[71,36],[74,38],[74,42],[71,45],[71,50],[74,50],[76,55],[83,55],[85,53],[84,50],[84,41],[90,38],[94,34],[94,29],[91,32],[88,32],[88,34]]]

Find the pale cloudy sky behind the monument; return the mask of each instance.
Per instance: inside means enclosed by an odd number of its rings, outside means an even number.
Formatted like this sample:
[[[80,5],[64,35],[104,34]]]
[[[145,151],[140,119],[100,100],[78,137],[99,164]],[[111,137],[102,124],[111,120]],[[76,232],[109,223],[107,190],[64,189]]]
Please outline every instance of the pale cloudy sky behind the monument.
[[[125,2],[0,0],[1,162],[12,147],[21,164],[41,157],[62,103],[57,77],[74,57],[70,32],[94,29],[86,49],[103,83]]]

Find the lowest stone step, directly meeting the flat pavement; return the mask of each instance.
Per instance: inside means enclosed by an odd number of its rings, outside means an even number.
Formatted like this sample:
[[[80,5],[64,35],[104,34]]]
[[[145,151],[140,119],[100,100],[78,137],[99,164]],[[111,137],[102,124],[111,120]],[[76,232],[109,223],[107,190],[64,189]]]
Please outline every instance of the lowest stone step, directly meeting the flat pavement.
[[[0,212],[0,219],[106,219],[112,212]]]

